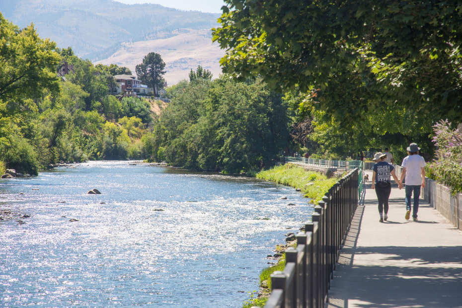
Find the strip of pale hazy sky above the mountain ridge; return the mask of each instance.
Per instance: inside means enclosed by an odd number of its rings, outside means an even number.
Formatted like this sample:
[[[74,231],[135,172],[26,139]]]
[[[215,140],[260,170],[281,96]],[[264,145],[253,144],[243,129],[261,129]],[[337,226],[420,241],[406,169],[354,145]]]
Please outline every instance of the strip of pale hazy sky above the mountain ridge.
[[[195,10],[206,13],[222,13],[223,0],[116,0],[126,4],[154,3],[181,10]]]

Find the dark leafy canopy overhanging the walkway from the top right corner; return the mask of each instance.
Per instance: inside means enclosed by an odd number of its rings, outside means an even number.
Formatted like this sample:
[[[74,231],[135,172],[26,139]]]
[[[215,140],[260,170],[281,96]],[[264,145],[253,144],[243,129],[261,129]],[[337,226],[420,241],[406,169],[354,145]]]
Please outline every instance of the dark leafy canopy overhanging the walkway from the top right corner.
[[[462,1],[226,0],[225,73],[299,87],[344,129],[374,113],[462,120]]]

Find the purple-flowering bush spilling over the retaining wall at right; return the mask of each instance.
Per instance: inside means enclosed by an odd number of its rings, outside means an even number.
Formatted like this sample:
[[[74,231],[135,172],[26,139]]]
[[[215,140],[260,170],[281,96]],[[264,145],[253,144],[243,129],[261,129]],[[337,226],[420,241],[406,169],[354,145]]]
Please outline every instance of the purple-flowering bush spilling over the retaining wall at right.
[[[448,120],[433,126],[433,143],[437,151],[428,176],[450,188],[452,194],[462,192],[462,132],[451,128]]]

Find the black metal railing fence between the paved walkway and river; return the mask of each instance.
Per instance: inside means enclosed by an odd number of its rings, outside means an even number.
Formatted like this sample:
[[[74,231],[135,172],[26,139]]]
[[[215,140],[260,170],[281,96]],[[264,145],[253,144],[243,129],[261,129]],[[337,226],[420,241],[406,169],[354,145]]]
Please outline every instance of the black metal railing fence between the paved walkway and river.
[[[264,308],[323,308],[330,280],[358,206],[359,169],[335,183],[314,208],[312,222],[286,250],[283,272],[271,275],[273,290]]]

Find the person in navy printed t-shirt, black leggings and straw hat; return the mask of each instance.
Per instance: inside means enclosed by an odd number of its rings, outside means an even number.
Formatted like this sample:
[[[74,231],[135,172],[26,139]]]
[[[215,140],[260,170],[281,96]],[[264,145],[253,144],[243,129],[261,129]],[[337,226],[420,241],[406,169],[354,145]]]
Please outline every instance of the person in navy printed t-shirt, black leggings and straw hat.
[[[372,167],[372,189],[376,190],[377,200],[379,201],[379,222],[381,223],[388,219],[388,199],[391,193],[390,175],[393,176],[394,181],[398,183],[399,189],[402,188],[401,183],[394,173],[394,166],[386,162],[385,158],[386,154],[378,152],[372,159],[376,162]]]

